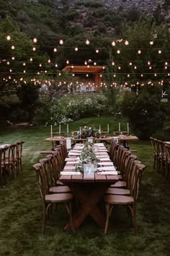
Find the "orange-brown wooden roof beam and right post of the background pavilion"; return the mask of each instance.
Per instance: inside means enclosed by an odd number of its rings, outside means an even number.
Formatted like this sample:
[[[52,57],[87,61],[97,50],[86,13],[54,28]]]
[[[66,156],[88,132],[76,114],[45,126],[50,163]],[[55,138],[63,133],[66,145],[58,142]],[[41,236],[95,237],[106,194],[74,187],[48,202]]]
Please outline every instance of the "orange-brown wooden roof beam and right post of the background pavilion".
[[[72,72],[73,74],[94,74],[94,85],[99,90],[99,85],[102,82],[102,66],[66,66],[63,71]]]

